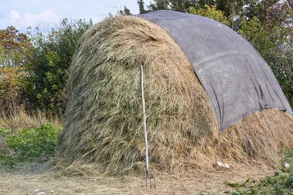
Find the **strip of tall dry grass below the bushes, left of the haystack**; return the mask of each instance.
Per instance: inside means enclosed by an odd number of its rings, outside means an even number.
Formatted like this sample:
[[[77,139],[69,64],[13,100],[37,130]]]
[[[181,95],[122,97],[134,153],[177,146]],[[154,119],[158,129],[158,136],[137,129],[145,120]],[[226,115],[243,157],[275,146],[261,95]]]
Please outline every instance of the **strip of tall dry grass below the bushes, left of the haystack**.
[[[58,117],[47,112],[45,115],[41,110],[26,112],[19,110],[17,113],[0,114],[0,128],[2,129],[21,129],[36,128],[44,123],[51,123],[55,128],[61,126],[61,120]]]

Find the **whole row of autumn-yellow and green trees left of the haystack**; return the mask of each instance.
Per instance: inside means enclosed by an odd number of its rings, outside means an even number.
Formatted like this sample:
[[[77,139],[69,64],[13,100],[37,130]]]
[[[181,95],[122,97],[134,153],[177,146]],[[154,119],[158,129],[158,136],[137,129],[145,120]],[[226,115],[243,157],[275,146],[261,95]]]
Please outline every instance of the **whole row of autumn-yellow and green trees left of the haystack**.
[[[125,12],[130,14],[127,8]],[[91,20],[63,19],[51,30],[37,28],[35,34],[19,33],[13,26],[0,30],[1,109],[11,112],[26,103],[62,115],[67,69],[79,38],[92,25]]]

